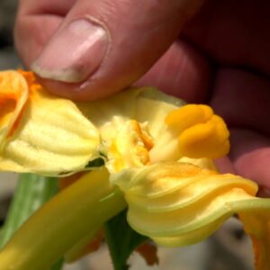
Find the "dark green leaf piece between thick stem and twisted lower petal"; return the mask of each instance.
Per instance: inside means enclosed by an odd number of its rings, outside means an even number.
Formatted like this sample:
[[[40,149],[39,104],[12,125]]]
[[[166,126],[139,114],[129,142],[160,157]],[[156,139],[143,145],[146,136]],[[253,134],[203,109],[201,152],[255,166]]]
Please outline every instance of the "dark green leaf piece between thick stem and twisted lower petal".
[[[126,216],[126,211],[121,211],[104,226],[114,270],[129,269],[127,260],[131,253],[148,239],[130,228]]]

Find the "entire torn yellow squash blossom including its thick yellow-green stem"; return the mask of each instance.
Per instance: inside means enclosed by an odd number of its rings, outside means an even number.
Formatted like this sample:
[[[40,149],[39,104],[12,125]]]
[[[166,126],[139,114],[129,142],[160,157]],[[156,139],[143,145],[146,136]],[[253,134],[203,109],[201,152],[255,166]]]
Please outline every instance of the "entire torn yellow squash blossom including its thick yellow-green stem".
[[[168,247],[200,241],[238,213],[257,269],[268,269],[270,202],[254,182],[215,169],[229,131],[209,106],[149,87],[73,103],[22,71],[0,73],[0,105],[0,170],[68,175],[104,159],[15,233],[0,269],[46,270],[125,207],[133,229]]]

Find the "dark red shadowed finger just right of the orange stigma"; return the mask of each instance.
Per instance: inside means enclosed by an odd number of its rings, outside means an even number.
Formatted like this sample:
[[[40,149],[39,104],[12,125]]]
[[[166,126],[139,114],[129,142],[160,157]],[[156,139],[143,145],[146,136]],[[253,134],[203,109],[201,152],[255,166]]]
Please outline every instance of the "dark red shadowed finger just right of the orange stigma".
[[[270,136],[270,80],[236,68],[217,72],[211,105],[230,127]]]

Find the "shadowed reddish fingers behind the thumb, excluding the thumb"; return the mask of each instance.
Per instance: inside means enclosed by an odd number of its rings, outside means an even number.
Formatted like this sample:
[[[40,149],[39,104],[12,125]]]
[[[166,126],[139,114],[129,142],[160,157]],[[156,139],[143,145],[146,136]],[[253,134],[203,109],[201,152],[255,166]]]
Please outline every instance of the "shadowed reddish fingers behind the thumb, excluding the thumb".
[[[230,129],[225,171],[270,188],[270,4],[209,1],[139,84],[210,103]],[[266,189],[262,195],[269,196]]]

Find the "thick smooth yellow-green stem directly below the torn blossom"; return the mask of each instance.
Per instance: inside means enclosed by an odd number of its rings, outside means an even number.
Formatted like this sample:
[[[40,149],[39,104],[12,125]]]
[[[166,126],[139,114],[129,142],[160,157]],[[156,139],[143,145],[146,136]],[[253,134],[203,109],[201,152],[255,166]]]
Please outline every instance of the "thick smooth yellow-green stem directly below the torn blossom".
[[[105,169],[81,177],[45,203],[0,253],[0,269],[47,270],[89,231],[126,207]]]

